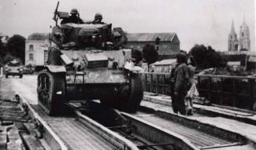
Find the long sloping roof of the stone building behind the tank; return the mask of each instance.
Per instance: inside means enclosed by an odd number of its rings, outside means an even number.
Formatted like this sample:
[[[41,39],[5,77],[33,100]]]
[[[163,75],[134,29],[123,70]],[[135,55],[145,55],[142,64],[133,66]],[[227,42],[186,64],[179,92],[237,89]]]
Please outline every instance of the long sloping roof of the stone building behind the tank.
[[[176,35],[174,32],[170,33],[128,33],[128,42],[154,42],[156,38],[161,41],[173,41]]]

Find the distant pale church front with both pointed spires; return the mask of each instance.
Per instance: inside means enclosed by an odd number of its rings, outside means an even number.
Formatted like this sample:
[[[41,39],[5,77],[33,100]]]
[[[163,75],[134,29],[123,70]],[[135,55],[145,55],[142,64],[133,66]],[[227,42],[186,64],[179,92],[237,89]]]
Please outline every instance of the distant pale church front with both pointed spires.
[[[236,35],[234,21],[228,34],[228,51],[250,51],[250,31],[243,18],[243,24],[239,28],[239,38]]]

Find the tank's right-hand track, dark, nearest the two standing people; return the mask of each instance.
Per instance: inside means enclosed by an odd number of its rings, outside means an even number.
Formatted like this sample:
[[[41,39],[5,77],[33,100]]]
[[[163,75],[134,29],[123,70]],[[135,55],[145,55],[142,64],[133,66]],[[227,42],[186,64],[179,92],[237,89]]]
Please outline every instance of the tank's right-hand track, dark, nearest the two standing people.
[[[136,112],[143,100],[143,84],[138,74],[131,74],[130,83],[121,90],[122,108],[125,112]]]

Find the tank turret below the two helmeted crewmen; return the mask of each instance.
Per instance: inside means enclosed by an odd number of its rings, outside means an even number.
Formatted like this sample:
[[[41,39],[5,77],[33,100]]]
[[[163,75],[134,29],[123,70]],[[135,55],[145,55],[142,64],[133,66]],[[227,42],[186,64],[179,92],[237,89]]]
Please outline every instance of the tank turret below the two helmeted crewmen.
[[[118,49],[127,41],[121,27],[112,30],[112,24],[61,24],[53,27],[50,38],[60,49]]]

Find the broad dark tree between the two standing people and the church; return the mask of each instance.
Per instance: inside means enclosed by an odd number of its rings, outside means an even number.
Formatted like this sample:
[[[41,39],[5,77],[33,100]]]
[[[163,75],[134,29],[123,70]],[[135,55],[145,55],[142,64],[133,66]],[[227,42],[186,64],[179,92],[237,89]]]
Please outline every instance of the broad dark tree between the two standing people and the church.
[[[220,68],[225,62],[221,55],[217,53],[211,46],[195,45],[189,54],[195,58],[198,68]]]

